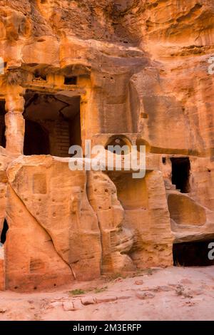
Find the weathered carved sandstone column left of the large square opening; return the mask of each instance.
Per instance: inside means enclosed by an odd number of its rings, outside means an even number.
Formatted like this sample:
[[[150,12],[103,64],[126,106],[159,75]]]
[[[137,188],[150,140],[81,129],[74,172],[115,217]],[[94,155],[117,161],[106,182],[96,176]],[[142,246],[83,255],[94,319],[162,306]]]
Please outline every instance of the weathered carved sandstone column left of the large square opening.
[[[15,88],[6,95],[6,150],[23,155],[24,148],[24,98]]]

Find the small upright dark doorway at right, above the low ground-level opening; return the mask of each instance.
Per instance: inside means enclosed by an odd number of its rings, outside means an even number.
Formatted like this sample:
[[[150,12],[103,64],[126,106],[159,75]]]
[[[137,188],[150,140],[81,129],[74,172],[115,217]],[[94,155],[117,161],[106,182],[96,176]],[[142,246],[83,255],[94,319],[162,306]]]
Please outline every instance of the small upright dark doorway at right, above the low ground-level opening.
[[[190,160],[184,158],[170,158],[172,163],[172,183],[181,193],[190,192]]]

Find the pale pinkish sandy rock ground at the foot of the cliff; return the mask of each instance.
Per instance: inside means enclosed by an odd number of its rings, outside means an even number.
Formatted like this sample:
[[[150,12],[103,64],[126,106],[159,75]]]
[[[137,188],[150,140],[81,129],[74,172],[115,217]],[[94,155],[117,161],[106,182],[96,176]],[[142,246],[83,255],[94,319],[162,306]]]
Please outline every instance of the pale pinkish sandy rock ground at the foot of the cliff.
[[[0,321],[214,320],[213,311],[214,267],[149,269],[51,292],[0,293]]]

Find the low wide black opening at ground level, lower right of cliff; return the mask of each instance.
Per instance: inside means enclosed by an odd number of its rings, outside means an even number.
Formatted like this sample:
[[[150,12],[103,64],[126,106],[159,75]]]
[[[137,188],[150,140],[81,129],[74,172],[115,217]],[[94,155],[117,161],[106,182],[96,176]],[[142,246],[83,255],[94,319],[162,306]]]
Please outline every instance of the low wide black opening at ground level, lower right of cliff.
[[[173,264],[175,267],[210,267],[214,265],[214,259],[209,259],[211,252],[209,244],[214,239],[199,242],[183,242],[173,244]],[[214,247],[213,247],[214,249]],[[214,252],[213,252],[214,255]]]

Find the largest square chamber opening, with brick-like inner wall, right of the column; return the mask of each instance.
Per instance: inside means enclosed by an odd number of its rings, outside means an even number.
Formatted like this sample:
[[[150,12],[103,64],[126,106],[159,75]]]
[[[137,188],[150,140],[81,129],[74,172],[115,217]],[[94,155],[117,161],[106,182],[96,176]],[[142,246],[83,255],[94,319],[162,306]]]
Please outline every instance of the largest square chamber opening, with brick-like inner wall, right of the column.
[[[26,91],[24,155],[69,157],[81,145],[80,96]]]

